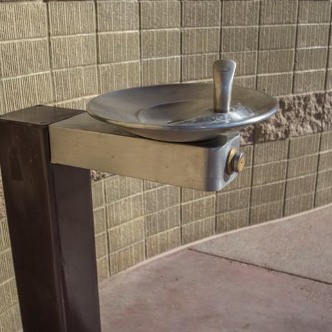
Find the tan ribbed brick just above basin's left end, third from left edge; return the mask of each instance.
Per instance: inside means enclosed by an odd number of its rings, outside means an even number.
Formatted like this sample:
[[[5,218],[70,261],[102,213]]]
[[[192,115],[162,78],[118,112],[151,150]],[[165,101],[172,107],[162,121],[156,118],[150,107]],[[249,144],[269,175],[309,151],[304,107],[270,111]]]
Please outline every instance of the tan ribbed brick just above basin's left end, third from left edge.
[[[98,66],[100,92],[140,86],[140,62],[118,62]]]

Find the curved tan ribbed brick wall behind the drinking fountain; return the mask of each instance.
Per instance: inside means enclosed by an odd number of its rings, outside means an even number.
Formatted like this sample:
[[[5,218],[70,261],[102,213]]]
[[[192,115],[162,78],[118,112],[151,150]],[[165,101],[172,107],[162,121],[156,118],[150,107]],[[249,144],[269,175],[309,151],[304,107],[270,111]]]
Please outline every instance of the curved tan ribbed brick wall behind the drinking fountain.
[[[243,131],[246,168],[221,192],[93,172],[102,280],[181,244],[332,202],[331,46],[330,0],[0,1],[0,114],[209,82],[220,57],[237,61],[235,84],[279,98],[276,116]],[[0,190],[0,332],[20,329]]]

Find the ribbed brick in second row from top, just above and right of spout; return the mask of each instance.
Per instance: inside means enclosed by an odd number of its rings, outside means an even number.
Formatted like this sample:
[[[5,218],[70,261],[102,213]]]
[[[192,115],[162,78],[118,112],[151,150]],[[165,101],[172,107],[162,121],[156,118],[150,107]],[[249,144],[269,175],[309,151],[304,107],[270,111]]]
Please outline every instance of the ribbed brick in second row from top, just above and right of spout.
[[[222,28],[221,35],[222,52],[257,50],[257,26]]]

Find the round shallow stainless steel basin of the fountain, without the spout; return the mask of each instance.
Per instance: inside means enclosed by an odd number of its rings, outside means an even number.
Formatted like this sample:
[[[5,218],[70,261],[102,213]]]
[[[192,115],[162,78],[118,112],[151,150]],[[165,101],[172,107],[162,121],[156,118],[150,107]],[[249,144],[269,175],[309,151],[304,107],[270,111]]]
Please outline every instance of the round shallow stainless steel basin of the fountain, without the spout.
[[[215,113],[216,120],[205,121],[213,113],[213,91],[213,84],[206,83],[124,89],[94,98],[88,112],[147,138],[194,142],[266,120],[278,108],[277,100],[266,93],[233,86],[230,111]]]

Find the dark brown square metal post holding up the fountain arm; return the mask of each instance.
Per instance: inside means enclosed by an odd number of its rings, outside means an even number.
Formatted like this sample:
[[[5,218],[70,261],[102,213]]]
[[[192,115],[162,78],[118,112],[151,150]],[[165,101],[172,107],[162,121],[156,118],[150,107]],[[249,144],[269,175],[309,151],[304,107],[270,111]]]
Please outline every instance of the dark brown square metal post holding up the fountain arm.
[[[81,113],[0,118],[0,164],[24,332],[100,332],[91,178],[50,163],[48,125]]]

